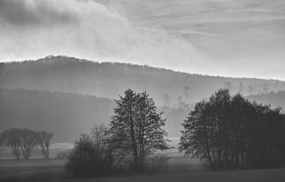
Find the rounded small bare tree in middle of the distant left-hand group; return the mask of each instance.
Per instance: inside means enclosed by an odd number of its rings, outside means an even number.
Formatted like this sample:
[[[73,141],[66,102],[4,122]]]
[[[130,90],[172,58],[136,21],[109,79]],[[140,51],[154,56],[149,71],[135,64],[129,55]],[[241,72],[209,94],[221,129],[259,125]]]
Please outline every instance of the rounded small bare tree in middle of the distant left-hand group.
[[[37,133],[31,129],[26,129],[26,128],[21,129],[20,147],[24,159],[28,159],[31,156],[33,150],[36,149],[37,145],[38,145]]]

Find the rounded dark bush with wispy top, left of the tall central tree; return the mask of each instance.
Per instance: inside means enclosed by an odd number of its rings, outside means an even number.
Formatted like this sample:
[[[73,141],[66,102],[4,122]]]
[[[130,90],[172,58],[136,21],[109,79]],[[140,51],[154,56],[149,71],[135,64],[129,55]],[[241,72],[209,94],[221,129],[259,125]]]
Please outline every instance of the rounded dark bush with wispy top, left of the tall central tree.
[[[81,134],[68,155],[66,170],[76,177],[97,177],[113,171],[113,152],[103,124]]]

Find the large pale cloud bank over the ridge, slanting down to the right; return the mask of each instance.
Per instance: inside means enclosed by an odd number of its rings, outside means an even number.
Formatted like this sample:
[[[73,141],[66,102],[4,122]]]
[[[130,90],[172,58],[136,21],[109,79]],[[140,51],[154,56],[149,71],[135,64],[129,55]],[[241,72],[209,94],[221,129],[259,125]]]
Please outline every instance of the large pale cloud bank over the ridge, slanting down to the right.
[[[134,27],[95,1],[0,0],[0,61],[68,55],[188,71],[203,59],[161,27]]]

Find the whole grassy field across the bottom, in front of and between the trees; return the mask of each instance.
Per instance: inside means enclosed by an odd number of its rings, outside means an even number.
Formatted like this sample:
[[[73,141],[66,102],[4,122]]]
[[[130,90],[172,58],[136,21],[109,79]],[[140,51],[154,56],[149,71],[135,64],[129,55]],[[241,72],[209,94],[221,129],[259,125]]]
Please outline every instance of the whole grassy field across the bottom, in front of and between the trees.
[[[65,159],[0,160],[0,181],[285,181],[285,168],[211,172],[197,159],[171,154],[156,175],[73,179],[64,171]]]

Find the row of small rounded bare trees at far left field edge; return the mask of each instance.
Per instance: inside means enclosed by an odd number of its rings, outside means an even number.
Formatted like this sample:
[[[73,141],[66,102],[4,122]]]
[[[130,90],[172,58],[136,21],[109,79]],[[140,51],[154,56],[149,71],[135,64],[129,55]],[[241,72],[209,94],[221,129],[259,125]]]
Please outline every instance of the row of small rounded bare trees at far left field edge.
[[[28,159],[37,146],[40,146],[41,153],[48,159],[53,134],[46,131],[36,132],[31,129],[13,127],[2,132],[0,138],[1,145],[11,147],[16,159],[20,159],[21,155],[24,159]]]

